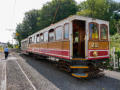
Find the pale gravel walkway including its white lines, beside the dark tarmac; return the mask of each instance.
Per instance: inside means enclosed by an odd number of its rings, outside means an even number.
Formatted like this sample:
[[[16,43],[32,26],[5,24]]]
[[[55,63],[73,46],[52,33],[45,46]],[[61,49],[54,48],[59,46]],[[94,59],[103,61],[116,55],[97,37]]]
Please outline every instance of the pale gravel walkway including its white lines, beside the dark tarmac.
[[[19,65],[17,58],[0,54],[0,90],[37,90]]]

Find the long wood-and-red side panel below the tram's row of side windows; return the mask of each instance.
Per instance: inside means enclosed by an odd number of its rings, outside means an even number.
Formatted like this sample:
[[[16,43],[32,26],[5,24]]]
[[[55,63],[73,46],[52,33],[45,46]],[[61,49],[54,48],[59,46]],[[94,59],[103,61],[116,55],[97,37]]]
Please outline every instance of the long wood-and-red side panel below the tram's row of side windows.
[[[29,44],[28,52],[47,56],[54,56],[63,59],[70,59],[69,44],[69,41]]]

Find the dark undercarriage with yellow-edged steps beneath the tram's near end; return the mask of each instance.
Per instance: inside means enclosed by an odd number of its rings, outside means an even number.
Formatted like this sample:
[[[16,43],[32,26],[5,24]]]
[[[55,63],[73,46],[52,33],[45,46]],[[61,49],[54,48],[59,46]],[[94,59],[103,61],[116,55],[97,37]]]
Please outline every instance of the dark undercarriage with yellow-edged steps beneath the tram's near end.
[[[71,73],[72,76],[76,78],[92,78],[103,76],[105,60],[101,60],[99,63],[97,63],[97,61],[72,60],[71,62],[67,62],[60,60],[57,63],[57,67]]]

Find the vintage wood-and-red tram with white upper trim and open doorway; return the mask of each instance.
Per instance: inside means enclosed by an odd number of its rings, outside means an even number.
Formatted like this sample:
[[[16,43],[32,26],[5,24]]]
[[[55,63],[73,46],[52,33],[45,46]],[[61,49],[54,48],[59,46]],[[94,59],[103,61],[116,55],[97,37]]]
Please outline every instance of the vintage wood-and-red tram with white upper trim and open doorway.
[[[28,36],[21,49],[51,57],[74,77],[97,75],[109,59],[109,22],[73,15]]]

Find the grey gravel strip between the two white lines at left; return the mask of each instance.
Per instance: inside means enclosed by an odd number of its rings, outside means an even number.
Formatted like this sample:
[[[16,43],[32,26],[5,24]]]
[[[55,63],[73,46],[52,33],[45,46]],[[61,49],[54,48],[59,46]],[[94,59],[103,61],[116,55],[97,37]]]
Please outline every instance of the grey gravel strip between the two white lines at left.
[[[7,62],[7,90],[33,90],[15,61]]]

